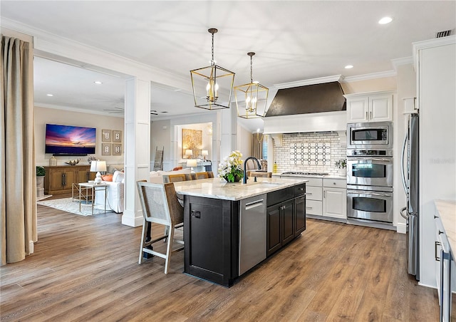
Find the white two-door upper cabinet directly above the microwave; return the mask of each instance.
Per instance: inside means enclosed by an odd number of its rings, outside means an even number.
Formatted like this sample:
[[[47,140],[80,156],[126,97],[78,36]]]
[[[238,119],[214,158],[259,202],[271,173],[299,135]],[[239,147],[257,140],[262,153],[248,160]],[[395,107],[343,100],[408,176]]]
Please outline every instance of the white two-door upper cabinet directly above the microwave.
[[[359,93],[344,95],[347,99],[347,123],[393,120],[393,93]]]

